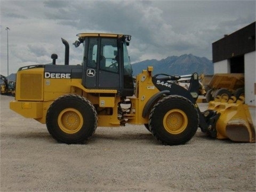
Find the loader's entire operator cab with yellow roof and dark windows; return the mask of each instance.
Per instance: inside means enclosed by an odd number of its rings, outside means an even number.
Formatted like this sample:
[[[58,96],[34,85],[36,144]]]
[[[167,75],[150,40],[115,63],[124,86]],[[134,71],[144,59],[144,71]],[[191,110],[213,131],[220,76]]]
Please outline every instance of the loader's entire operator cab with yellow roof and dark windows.
[[[123,97],[132,96],[132,66],[127,52],[130,35],[78,34],[83,43],[82,84],[87,89],[117,90]]]

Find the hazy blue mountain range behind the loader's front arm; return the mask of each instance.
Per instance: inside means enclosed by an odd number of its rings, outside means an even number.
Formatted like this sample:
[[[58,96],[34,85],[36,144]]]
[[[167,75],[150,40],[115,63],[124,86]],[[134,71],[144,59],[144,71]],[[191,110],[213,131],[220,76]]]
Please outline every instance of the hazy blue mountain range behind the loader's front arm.
[[[183,54],[180,57],[171,56],[162,60],[145,60],[132,64],[133,76],[141,73],[148,66],[153,66],[153,74],[189,75],[192,73],[212,75],[213,62],[205,57],[197,57],[193,54]]]

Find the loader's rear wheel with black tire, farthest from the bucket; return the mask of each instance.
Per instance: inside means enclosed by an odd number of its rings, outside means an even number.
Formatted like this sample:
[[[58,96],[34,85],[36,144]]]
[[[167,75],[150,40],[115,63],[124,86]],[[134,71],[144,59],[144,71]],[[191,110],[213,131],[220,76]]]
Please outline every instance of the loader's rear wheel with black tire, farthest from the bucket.
[[[46,126],[58,142],[82,143],[92,136],[98,124],[92,103],[74,94],[59,97],[49,107]]]

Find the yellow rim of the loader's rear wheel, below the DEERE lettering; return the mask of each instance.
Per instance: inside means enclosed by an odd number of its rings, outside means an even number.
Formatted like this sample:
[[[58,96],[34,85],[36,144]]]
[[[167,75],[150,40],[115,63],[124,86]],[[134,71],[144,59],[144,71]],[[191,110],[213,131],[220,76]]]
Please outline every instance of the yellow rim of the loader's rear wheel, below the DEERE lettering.
[[[81,130],[83,123],[83,116],[74,108],[62,110],[58,117],[60,129],[68,134],[77,133]]]

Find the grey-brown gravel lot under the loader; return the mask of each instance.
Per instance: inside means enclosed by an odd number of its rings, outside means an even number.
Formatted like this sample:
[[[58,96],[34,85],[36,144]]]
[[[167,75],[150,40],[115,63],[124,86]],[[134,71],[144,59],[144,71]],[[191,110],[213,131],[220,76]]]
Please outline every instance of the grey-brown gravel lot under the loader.
[[[198,129],[186,145],[163,146],[144,126],[127,125],[65,145],[11,111],[11,100],[1,95],[1,191],[256,190],[255,143],[212,140]]]

